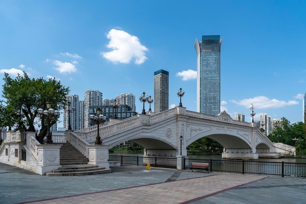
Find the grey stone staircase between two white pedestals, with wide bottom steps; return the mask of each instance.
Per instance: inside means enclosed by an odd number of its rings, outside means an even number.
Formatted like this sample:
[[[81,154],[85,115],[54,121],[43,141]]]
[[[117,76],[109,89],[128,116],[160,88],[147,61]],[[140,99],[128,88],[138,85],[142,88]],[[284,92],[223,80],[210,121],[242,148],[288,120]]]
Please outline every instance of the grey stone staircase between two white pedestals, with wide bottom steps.
[[[74,148],[70,143],[63,143],[60,149],[60,164],[62,167],[47,176],[83,176],[110,173],[111,169],[98,165],[87,164],[88,158]]]

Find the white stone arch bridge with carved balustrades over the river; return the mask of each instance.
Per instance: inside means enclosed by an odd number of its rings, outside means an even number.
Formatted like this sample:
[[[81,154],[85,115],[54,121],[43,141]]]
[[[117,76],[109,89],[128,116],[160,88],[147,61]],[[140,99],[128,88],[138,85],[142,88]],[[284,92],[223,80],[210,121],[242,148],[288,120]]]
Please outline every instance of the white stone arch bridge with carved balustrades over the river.
[[[187,156],[186,147],[202,137],[211,138],[224,147],[223,159],[256,160],[294,151],[293,146],[272,143],[254,123],[232,120],[225,111],[211,116],[179,106],[153,115],[138,114],[125,120],[111,119],[100,125],[99,133],[104,148],[101,154],[107,156],[106,149],[125,141],[140,144],[145,148],[144,155],[148,156]],[[69,135],[67,141],[90,158],[88,146],[97,146],[94,145],[97,125],[69,132]],[[182,142],[180,136],[183,137]],[[92,151],[95,151],[92,158],[99,154],[96,149]]]

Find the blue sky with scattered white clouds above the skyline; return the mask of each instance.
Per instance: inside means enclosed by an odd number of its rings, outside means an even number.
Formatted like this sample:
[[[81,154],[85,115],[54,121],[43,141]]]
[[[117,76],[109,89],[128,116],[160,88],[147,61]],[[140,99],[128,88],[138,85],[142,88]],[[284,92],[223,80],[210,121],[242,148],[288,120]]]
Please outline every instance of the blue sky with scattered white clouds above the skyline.
[[[0,75],[55,77],[80,100],[87,89],[138,98],[153,97],[154,71],[164,69],[169,105],[181,87],[183,106],[196,111],[194,43],[220,35],[221,111],[250,122],[252,102],[254,120],[300,122],[305,11],[303,0],[0,0]]]

